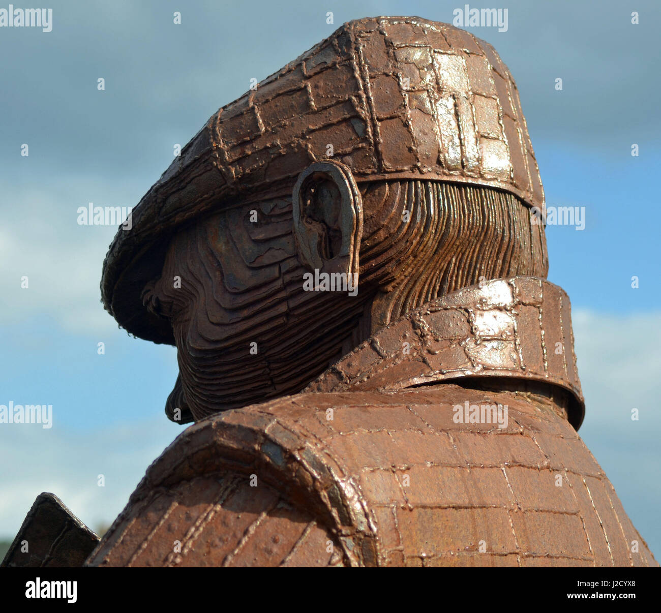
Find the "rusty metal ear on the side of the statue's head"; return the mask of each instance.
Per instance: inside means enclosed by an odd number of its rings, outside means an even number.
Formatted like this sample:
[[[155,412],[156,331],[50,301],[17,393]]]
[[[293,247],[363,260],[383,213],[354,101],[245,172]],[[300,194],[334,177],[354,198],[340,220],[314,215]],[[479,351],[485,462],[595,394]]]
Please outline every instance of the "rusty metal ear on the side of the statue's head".
[[[348,166],[313,162],[292,193],[293,233],[303,264],[320,272],[358,274],[363,206]]]

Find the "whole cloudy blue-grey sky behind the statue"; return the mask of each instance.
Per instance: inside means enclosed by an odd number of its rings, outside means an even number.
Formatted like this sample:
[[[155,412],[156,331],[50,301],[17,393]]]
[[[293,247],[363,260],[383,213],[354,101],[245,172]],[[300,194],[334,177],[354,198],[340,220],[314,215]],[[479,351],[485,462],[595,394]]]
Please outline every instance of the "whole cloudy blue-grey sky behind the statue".
[[[93,528],[110,523],[180,432],[163,413],[175,349],[128,337],[104,312],[98,283],[115,228],[78,225],[78,207],[135,205],[169,166],[175,143],[241,96],[251,78],[280,69],[342,22],[451,22],[464,4],[49,6],[51,32],[0,28],[0,404],[54,410],[51,429],[0,424],[0,538],[13,538],[41,491]],[[496,47],[517,81],[547,203],[585,207],[583,231],[547,228],[549,279],[572,299],[587,402],[580,434],[658,558],[661,9],[654,0],[506,7],[506,31],[467,29]],[[175,11],[181,24],[173,24]],[[24,143],[28,157],[20,155]]]

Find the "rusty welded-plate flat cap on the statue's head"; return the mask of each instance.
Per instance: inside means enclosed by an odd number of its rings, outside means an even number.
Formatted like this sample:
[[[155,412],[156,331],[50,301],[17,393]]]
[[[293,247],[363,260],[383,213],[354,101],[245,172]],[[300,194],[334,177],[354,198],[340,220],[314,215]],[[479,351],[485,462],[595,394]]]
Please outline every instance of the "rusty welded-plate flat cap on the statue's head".
[[[204,213],[288,196],[332,157],[356,182],[426,179],[487,186],[543,208],[514,79],[490,44],[418,17],[351,21],[223,106],[132,212],[104,260],[104,307],[128,332],[174,344],[141,291],[169,237]]]

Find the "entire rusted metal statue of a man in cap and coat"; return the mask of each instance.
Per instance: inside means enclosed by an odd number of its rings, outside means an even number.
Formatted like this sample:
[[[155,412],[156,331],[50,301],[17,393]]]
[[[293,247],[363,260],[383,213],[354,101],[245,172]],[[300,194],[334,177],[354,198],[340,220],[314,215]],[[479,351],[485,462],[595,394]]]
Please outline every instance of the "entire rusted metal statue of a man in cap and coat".
[[[196,423],[86,564],[656,565],[535,207],[514,80],[447,24],[350,22],[219,110],[104,262]]]

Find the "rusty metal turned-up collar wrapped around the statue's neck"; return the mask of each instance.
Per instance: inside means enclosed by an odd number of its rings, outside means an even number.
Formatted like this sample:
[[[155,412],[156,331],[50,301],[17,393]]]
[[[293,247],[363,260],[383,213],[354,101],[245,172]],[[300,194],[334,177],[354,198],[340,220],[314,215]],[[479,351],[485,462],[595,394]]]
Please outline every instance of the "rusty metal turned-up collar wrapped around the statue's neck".
[[[460,377],[560,386],[575,401],[568,420],[578,429],[585,404],[563,289],[512,277],[449,293],[381,328],[303,392],[401,390]]]

